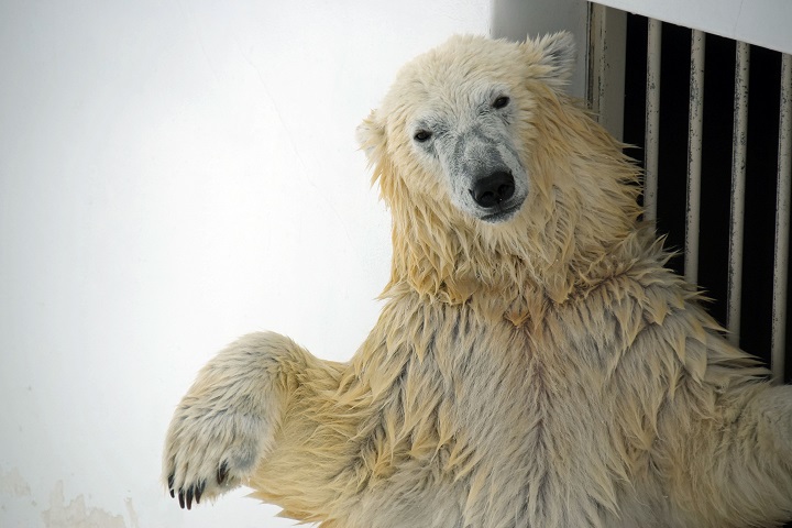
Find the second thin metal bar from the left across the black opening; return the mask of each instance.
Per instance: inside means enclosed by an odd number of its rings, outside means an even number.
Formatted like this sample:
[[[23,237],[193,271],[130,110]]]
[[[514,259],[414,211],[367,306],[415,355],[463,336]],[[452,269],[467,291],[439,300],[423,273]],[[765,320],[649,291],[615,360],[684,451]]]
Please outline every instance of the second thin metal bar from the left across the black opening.
[[[691,35],[690,114],[688,129],[688,219],[685,223],[685,279],[698,282],[698,226],[701,210],[701,157],[704,125],[705,33]]]

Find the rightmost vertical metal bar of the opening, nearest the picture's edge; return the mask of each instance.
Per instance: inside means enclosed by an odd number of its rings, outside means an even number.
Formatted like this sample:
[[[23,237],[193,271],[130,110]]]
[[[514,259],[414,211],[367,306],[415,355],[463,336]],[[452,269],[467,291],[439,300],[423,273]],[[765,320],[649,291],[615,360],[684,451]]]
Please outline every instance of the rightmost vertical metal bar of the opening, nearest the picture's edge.
[[[787,282],[789,273],[790,190],[792,188],[792,55],[781,58],[776,258],[773,263],[772,378],[783,383],[787,345]]]

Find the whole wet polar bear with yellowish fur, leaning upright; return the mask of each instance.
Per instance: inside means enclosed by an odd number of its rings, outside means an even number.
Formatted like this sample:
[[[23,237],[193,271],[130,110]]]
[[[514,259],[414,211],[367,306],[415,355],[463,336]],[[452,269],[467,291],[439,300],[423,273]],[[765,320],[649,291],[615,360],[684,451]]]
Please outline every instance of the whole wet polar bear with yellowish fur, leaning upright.
[[[189,508],[240,484],[322,527],[737,527],[792,512],[792,387],[725,341],[562,87],[565,33],[458,36],[359,129],[393,213],[349,363],[254,333],[167,432]]]

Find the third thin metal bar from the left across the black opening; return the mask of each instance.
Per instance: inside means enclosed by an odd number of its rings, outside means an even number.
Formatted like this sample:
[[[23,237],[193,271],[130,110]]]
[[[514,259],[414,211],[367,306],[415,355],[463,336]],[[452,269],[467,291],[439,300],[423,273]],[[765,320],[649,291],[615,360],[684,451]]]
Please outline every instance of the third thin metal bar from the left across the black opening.
[[[735,112],[732,136],[732,229],[729,237],[728,315],[729,341],[739,344],[740,302],[743,297],[743,220],[745,217],[745,166],[748,129],[748,74],[750,45],[737,43],[735,64]]]

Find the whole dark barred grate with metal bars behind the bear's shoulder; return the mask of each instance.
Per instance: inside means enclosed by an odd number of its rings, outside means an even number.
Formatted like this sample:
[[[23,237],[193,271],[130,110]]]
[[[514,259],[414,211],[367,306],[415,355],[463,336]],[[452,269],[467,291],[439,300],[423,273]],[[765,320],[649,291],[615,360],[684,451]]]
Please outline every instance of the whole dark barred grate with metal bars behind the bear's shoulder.
[[[792,56],[598,4],[591,30],[588,99],[642,147],[629,153],[645,169],[646,218],[684,248],[678,271],[725,299],[711,311],[729,339],[790,380]],[[604,94],[614,72],[623,101]]]

